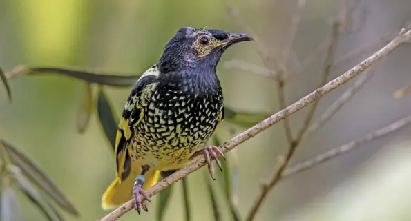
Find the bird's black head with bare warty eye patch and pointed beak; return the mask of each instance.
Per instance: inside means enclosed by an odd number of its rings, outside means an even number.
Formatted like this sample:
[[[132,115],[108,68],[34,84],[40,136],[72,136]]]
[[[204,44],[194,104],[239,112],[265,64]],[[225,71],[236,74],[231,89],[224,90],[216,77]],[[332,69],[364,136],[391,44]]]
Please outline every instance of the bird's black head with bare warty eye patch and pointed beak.
[[[180,28],[160,58],[164,72],[187,68],[216,68],[223,52],[233,44],[254,41],[250,35],[229,33],[217,29]]]

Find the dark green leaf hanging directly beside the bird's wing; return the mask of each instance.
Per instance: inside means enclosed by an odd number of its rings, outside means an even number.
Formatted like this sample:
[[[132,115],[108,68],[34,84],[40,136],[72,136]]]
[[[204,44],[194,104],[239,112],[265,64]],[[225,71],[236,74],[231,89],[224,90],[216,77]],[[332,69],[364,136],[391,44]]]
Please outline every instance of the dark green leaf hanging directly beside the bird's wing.
[[[97,101],[97,113],[99,115],[100,123],[103,126],[104,133],[111,143],[111,146],[115,146],[115,134],[117,133],[117,119],[114,117],[113,110],[106,93],[103,88],[99,90],[99,97]]]

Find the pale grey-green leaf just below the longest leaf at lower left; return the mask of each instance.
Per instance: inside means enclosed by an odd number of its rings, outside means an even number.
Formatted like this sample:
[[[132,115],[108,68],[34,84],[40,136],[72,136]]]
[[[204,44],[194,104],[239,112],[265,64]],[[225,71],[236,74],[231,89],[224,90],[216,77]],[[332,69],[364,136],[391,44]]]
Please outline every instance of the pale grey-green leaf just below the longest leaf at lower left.
[[[46,216],[48,220],[63,220],[59,213],[57,213],[57,211],[51,205],[49,205],[45,200],[43,200],[43,198],[41,198],[41,195],[37,192],[35,187],[32,186],[32,184],[28,182],[26,177],[23,176],[19,167],[10,165],[8,166],[8,171],[10,171],[14,175],[24,195],[26,195],[27,198],[41,210],[41,212]]]

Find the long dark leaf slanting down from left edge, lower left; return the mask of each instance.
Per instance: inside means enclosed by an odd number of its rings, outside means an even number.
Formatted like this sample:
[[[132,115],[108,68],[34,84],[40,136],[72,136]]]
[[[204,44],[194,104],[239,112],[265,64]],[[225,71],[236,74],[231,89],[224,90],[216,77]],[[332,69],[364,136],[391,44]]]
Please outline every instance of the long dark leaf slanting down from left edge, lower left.
[[[21,171],[39,188],[44,191],[52,200],[57,202],[64,210],[69,213],[78,216],[79,212],[73,204],[66,198],[64,193],[61,192],[59,187],[52,182],[52,180],[44,173],[40,166],[28,156],[27,153],[24,153],[20,148],[12,146],[5,140],[0,140],[3,144],[4,149],[10,160],[13,164],[19,166]]]

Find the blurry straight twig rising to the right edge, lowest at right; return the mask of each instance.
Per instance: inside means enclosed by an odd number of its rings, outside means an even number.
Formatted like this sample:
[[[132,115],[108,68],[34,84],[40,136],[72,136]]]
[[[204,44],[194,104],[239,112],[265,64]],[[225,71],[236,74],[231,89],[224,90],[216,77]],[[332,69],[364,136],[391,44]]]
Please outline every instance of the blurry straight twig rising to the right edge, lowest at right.
[[[378,131],[374,131],[373,133],[366,135],[361,140],[349,142],[347,144],[344,144],[343,146],[339,146],[325,153],[321,153],[320,155],[317,155],[311,160],[307,160],[305,162],[298,163],[295,166],[291,166],[289,169],[286,169],[284,171],[283,178],[291,177],[291,175],[296,175],[297,173],[300,173],[307,169],[311,169],[312,167],[318,164],[321,164],[328,160],[332,160],[335,157],[338,157],[340,155],[348,153],[349,151],[354,150],[355,148],[358,148],[359,146],[361,146],[362,144],[365,144],[366,142],[370,142],[372,140],[375,140],[376,138],[382,137],[384,135],[388,135],[389,133],[397,131],[400,128],[403,128],[404,126],[407,126],[408,124],[411,124],[411,115],[409,115],[408,117],[404,117],[403,119],[400,119],[399,121],[394,122],[388,126],[385,126],[384,128],[381,128]]]

